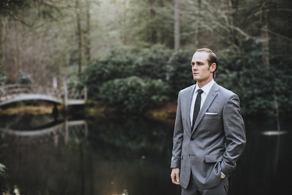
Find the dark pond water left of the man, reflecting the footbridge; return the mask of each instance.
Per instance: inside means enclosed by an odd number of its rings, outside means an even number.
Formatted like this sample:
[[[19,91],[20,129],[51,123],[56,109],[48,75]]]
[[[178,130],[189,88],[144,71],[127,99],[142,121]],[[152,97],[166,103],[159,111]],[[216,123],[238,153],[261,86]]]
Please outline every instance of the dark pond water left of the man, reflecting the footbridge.
[[[2,193],[146,195],[175,189],[167,185],[171,126],[123,116],[49,122],[32,130],[6,124],[0,160],[9,178],[0,182]]]

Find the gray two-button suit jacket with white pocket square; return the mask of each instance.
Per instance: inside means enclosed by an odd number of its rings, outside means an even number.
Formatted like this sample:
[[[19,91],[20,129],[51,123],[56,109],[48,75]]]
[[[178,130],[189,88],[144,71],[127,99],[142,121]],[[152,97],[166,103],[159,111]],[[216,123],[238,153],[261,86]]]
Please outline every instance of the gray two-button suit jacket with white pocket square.
[[[214,83],[201,107],[194,129],[190,107],[195,85],[179,93],[173,135],[171,168],[179,168],[180,184],[187,188],[191,173],[199,188],[210,189],[236,168],[245,143],[239,98]],[[226,146],[226,139],[230,143]]]

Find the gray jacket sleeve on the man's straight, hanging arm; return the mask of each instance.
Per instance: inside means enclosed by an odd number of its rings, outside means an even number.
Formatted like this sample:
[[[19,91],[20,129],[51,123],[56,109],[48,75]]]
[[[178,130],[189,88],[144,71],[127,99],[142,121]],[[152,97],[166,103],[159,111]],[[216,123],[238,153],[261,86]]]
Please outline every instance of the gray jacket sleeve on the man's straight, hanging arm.
[[[174,133],[173,133],[173,149],[171,158],[171,168],[181,168],[181,156],[183,145],[183,122],[181,113],[180,94],[178,96],[178,108],[175,119]]]

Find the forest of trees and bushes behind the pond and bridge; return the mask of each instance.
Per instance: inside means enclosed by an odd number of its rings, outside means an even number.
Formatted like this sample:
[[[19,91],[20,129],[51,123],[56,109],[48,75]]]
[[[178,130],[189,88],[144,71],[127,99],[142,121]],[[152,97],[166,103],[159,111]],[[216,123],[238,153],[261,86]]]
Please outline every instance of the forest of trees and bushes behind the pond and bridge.
[[[195,83],[190,61],[204,47],[244,116],[291,118],[291,24],[291,0],[0,0],[0,85],[65,77],[143,113]]]

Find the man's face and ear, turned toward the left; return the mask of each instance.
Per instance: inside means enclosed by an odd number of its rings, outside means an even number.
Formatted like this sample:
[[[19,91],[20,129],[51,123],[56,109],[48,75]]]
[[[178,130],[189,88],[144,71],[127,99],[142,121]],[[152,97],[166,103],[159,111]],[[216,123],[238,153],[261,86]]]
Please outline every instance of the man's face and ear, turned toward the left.
[[[193,78],[197,83],[204,86],[213,79],[213,72],[216,69],[216,63],[209,66],[208,63],[209,53],[196,52],[192,59]],[[200,87],[202,87],[200,86]]]

